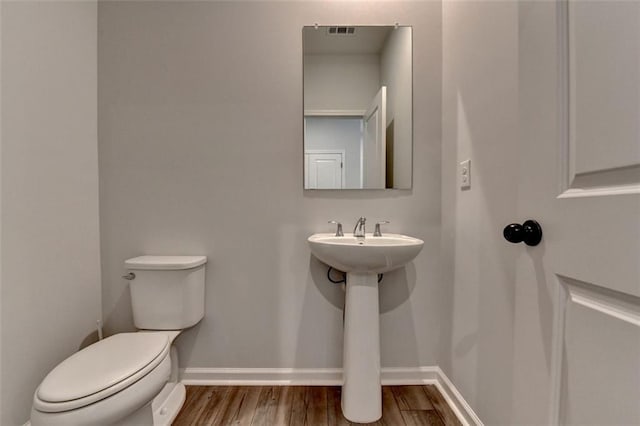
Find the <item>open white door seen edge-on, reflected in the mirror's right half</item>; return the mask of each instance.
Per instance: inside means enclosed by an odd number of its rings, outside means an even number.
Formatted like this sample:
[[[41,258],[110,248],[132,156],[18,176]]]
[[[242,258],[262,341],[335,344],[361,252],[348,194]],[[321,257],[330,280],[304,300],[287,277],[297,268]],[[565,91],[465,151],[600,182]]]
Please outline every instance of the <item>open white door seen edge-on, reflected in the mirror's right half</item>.
[[[364,115],[363,188],[385,187],[387,88],[382,86]]]

